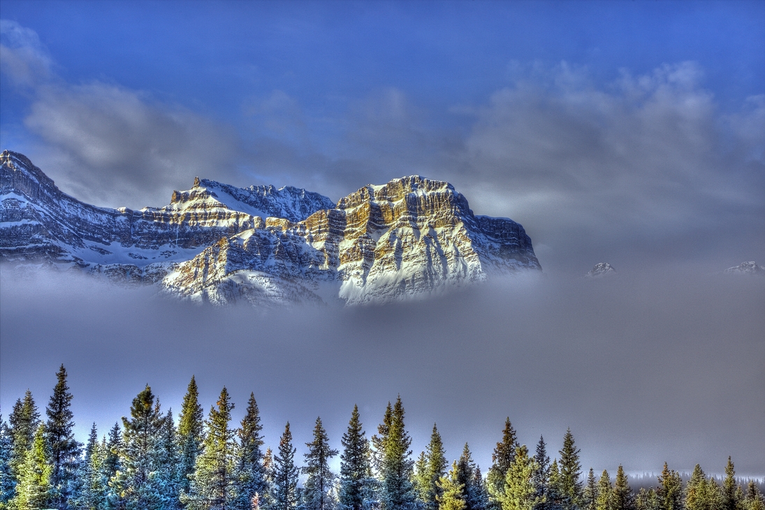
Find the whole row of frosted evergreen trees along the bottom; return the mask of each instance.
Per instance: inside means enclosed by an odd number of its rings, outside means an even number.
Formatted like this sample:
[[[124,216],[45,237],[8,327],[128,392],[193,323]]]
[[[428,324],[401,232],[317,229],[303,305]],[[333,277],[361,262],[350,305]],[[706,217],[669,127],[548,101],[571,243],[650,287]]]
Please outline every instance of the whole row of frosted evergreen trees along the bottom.
[[[122,426],[99,439],[93,424],[83,445],[74,439],[69,389],[61,365],[47,420],[30,391],[8,423],[0,415],[0,509],[765,510],[757,484],[739,485],[730,458],[721,484],[698,465],[684,483],[665,463],[656,486],[635,493],[622,466],[613,480],[607,471],[597,479],[593,469],[583,477],[571,430],[551,462],[544,438],[530,452],[509,418],[486,476],[467,443],[448,464],[435,424],[415,460],[400,397],[369,438],[354,406],[341,452],[330,447],[317,418],[298,466],[289,422],[277,450],[264,450],[255,396],[233,428],[226,388],[205,418],[193,376],[177,424],[147,385]],[[333,473],[337,455],[340,473]]]

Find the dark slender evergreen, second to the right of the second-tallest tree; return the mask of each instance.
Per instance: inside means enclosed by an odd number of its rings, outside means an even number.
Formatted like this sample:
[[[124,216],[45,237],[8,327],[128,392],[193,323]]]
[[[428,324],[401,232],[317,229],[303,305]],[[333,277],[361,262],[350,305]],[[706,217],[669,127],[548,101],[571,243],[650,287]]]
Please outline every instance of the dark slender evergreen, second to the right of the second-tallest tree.
[[[251,508],[252,498],[257,494],[259,500],[266,492],[265,470],[263,468],[263,437],[260,431],[260,411],[255,401],[255,394],[249,394],[247,411],[242,418],[241,427],[236,431],[239,436],[239,450],[236,459],[237,494],[236,508]],[[264,500],[265,502],[265,500]]]

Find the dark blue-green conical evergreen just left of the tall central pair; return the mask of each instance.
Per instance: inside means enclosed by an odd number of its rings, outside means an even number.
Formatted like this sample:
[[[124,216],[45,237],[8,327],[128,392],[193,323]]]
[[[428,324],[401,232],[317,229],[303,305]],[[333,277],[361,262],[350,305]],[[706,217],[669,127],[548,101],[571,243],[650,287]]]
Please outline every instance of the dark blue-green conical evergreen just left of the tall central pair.
[[[373,481],[369,460],[369,441],[359,421],[359,408],[353,406],[348,430],[340,443],[340,507],[343,510],[368,508],[372,500]]]

